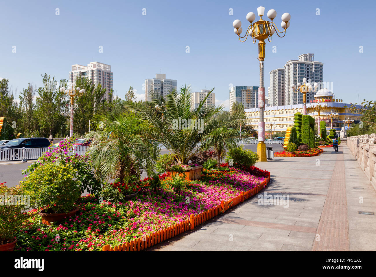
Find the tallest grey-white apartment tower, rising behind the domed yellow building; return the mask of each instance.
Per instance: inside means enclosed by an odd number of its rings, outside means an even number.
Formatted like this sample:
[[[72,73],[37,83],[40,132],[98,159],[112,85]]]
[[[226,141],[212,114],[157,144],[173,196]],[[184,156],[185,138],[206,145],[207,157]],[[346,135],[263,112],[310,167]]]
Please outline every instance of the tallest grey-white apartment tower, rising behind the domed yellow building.
[[[314,61],[314,54],[302,54],[299,60],[288,61],[285,68],[285,105],[296,105],[303,103],[303,94],[294,93],[293,84],[303,84],[303,78],[307,82],[318,83],[317,91],[323,88],[323,63]],[[307,103],[314,100],[315,92],[307,93]]]

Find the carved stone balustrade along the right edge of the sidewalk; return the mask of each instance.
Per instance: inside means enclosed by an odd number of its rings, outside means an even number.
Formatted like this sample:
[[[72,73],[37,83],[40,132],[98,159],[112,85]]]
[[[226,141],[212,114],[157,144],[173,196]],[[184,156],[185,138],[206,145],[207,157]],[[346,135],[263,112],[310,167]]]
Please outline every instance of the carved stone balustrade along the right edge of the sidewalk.
[[[376,134],[350,136],[347,147],[376,190]]]

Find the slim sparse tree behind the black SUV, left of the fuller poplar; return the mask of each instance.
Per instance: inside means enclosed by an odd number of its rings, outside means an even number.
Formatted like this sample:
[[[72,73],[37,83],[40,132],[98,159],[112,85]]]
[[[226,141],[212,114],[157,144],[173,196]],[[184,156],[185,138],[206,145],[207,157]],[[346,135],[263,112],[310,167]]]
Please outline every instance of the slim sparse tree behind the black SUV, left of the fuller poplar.
[[[35,98],[36,86],[29,83],[27,89],[23,89],[20,94],[21,126],[24,133],[32,133],[38,130],[38,122],[35,116]]]

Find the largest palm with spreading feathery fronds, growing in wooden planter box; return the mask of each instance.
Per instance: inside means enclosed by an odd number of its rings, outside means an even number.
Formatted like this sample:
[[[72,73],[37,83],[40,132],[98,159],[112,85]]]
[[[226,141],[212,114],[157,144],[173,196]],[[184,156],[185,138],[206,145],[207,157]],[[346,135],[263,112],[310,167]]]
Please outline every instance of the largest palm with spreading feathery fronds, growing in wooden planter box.
[[[195,153],[213,146],[209,143],[209,138],[214,132],[237,129],[242,120],[236,116],[218,116],[223,110],[222,105],[205,106],[212,91],[213,89],[194,109],[191,106],[190,86],[181,87],[179,92],[172,90],[165,97],[150,91],[151,102],[158,113],[142,103],[132,103],[130,109],[152,126],[149,133],[174,153],[179,164],[187,164]]]

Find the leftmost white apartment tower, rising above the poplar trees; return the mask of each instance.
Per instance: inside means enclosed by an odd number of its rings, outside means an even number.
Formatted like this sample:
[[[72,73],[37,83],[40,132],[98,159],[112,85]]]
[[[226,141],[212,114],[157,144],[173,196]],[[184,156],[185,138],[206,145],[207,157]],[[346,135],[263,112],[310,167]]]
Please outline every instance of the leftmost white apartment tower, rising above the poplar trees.
[[[103,99],[109,100],[109,93],[113,89],[113,73],[110,65],[98,61],[93,61],[88,66],[72,64],[72,70],[69,72],[70,84],[74,86],[78,77],[89,78],[94,85],[102,84],[102,88],[106,89]]]

